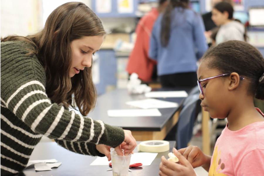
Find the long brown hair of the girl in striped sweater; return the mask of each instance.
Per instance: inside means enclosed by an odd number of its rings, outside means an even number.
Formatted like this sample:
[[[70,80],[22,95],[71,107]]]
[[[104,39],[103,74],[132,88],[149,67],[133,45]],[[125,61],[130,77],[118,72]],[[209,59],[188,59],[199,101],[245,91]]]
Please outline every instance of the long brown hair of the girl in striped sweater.
[[[82,115],[87,115],[94,108],[97,96],[92,81],[92,66],[70,78],[70,43],[83,36],[105,34],[101,20],[91,9],[81,2],[68,2],[57,7],[49,15],[44,29],[39,33],[26,37],[7,36],[1,39],[1,42],[23,40],[32,43],[35,50],[28,49],[43,65],[48,97],[52,102],[63,103],[66,107],[76,103]]]

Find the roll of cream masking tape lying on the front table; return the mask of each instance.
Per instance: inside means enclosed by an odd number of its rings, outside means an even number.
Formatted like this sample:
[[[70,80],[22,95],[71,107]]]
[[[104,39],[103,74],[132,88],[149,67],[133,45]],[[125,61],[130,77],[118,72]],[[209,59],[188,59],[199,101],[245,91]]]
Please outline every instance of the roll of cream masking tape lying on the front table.
[[[170,143],[165,140],[146,140],[138,145],[138,151],[159,153],[170,150]]]

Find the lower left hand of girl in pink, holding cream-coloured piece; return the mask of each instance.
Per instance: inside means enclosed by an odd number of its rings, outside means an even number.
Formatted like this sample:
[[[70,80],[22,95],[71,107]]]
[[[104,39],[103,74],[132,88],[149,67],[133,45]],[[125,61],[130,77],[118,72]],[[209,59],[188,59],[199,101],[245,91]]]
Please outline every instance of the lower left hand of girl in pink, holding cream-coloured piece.
[[[164,156],[161,157],[160,163],[160,176],[196,176],[196,173],[192,165],[182,156],[180,152],[177,152],[173,148],[174,155],[179,159],[179,164],[175,162],[168,161]]]

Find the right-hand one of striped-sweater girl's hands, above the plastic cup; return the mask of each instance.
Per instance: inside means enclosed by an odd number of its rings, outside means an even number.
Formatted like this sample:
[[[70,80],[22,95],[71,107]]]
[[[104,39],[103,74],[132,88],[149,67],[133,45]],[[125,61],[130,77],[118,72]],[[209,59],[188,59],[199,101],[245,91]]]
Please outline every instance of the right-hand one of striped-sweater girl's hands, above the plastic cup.
[[[125,156],[127,156],[129,153],[134,153],[133,150],[137,146],[136,139],[132,136],[131,131],[129,130],[124,130],[125,133],[125,139],[124,142],[117,146],[115,148],[117,155],[123,156],[122,149],[124,150]]]

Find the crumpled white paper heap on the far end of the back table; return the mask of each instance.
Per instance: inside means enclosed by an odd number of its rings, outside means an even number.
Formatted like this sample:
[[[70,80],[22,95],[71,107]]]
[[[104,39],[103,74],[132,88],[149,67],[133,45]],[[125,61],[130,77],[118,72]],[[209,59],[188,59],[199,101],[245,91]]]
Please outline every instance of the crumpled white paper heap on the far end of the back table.
[[[127,90],[130,94],[141,94],[150,92],[151,87],[147,86],[146,84],[141,84],[141,80],[138,79],[138,74],[132,73],[129,77]]]

